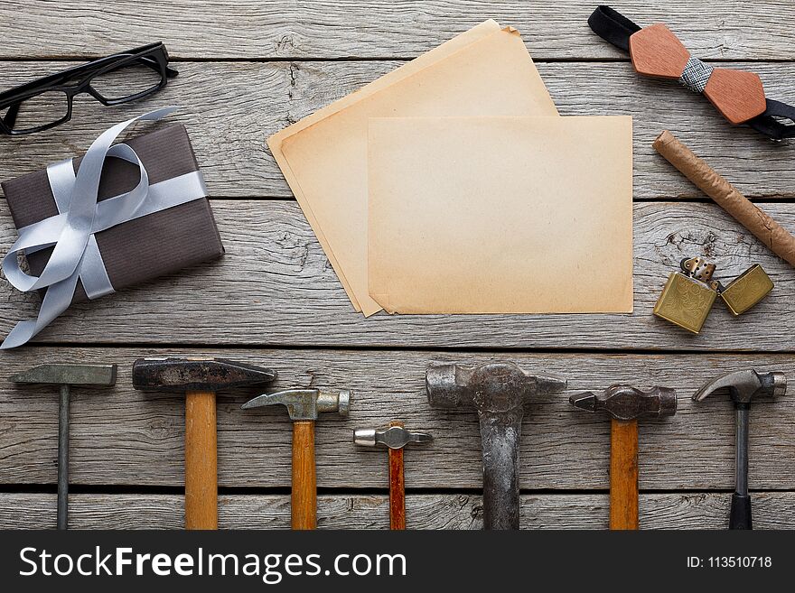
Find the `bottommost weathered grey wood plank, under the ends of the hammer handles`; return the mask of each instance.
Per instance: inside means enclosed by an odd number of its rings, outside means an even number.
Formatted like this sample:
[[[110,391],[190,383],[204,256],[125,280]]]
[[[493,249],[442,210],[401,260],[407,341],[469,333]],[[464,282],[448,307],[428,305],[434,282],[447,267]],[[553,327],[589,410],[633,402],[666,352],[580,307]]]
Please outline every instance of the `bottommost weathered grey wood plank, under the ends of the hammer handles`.
[[[730,496],[641,494],[641,529],[725,529]],[[388,497],[319,496],[320,529],[386,529]],[[522,529],[606,529],[607,495],[522,496]],[[795,493],[753,494],[755,529],[791,529]],[[72,495],[71,529],[182,529],[182,496]],[[221,529],[289,529],[290,498],[219,498]],[[407,496],[409,529],[482,529],[482,501],[471,495]],[[52,529],[55,496],[0,494],[0,529]]]

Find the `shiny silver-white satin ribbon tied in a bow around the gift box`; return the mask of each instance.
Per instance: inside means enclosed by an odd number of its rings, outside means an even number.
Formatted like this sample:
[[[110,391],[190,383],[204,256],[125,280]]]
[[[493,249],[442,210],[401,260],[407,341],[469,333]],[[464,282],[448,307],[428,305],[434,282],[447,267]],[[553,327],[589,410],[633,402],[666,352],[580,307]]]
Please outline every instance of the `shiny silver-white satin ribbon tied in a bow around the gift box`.
[[[127,144],[113,144],[127,126],[140,120],[156,121],[176,107],[164,107],[114,125],[91,144],[74,173],[71,160],[47,168],[52,195],[60,214],[19,229],[19,237],[3,259],[3,272],[14,288],[23,292],[46,288],[39,316],[20,321],[0,348],[23,345],[69,308],[78,279],[89,299],[114,292],[94,236],[110,227],[145,217],[207,196],[200,171],[149,185],[149,176],[136,152]],[[99,177],[108,157],[135,164],[140,180],[133,190],[97,201]],[[18,255],[31,254],[54,246],[40,276],[24,273]]]

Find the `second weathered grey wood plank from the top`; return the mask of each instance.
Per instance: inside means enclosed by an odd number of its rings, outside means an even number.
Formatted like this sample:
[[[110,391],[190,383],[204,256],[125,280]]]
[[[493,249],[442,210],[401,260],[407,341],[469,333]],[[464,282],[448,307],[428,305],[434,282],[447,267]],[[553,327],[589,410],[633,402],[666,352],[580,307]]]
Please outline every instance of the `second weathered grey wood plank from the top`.
[[[290,198],[265,147],[267,135],[331,103],[399,62],[182,63],[161,93],[124,107],[101,107],[78,97],[74,118],[33,137],[0,137],[0,179],[85,151],[105,128],[147,109],[180,105],[210,192],[217,197]],[[731,64],[729,64],[731,66]],[[747,68],[748,64],[737,64]],[[63,64],[2,62],[12,85]],[[703,97],[672,82],[641,79],[627,63],[552,63],[539,66],[560,112],[634,116],[635,198],[703,197],[651,148],[669,128],[741,191],[753,197],[795,196],[795,143],[773,144],[748,128],[728,125]],[[789,81],[795,64],[753,64],[770,97],[795,100]],[[138,125],[130,134],[141,134]]]

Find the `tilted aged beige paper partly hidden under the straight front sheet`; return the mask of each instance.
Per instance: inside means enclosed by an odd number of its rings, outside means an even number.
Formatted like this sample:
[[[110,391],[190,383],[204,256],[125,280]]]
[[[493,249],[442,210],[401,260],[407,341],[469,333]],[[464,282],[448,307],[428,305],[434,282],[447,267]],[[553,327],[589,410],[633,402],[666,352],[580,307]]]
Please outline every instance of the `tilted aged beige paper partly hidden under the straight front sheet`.
[[[519,34],[486,22],[434,57],[271,136],[268,145],[357,310],[380,310],[367,274],[367,133],[372,116],[555,116]],[[445,44],[438,50],[447,46]],[[432,53],[432,52],[431,52]]]

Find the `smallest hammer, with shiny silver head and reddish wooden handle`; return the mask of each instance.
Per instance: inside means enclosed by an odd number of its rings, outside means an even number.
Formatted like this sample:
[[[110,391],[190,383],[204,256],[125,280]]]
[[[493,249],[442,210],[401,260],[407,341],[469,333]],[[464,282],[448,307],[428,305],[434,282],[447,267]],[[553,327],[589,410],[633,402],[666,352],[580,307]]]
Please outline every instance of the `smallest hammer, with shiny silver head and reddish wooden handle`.
[[[357,429],[353,442],[363,447],[383,445],[389,450],[389,529],[406,529],[406,486],[403,477],[403,448],[410,442],[430,442],[426,432],[409,432],[403,422],[389,422],[385,429]]]

